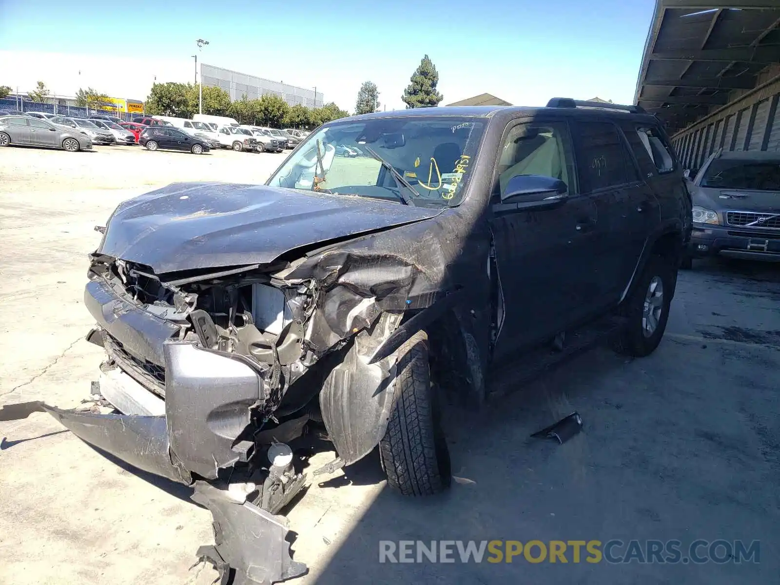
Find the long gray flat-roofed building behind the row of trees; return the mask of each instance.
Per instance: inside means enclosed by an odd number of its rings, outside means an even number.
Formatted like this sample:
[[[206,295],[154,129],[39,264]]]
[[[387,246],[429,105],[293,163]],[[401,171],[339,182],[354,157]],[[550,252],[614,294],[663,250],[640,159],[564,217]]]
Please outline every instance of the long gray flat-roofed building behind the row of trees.
[[[254,100],[261,95],[271,94],[282,97],[289,105],[300,104],[307,108],[320,108],[324,102],[321,92],[315,94],[315,87],[296,87],[205,63],[200,65],[200,79],[204,86],[222,87],[230,95],[231,101],[240,100],[244,95]]]

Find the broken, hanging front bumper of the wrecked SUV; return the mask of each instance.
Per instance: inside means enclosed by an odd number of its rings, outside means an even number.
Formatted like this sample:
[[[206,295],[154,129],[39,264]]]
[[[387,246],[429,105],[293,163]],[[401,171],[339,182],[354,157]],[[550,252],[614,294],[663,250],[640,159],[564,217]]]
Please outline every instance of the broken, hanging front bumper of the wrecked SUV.
[[[264,372],[180,341],[179,325],[99,278],[87,284],[84,301],[99,326],[88,339],[102,342],[111,358],[102,367],[101,394],[120,413],[47,406],[53,417],[90,445],[183,484],[193,474],[216,479],[220,469],[246,461],[251,450],[239,435],[265,396]]]

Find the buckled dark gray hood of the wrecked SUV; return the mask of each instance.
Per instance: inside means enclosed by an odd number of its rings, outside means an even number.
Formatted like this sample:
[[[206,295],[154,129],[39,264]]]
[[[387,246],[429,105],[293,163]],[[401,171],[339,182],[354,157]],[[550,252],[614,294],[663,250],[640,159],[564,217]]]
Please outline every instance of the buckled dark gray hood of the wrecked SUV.
[[[267,264],[302,246],[434,217],[441,209],[268,186],[175,183],[117,207],[97,250],[158,274]]]

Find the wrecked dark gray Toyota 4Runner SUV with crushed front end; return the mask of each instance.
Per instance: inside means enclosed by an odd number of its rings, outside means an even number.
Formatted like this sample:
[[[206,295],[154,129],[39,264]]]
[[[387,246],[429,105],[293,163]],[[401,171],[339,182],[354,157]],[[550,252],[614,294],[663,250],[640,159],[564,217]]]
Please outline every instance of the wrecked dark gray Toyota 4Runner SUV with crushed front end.
[[[264,186],[177,183],[120,204],[85,293],[107,353],[96,405],[46,408],[196,484],[218,565],[259,583],[247,559],[277,555],[268,579],[295,576],[272,516],[305,483],[287,443],[319,429],[338,454],[325,470],[378,445],[392,488],[441,491],[438,392],[481,403],[506,364],[551,363],[597,323],[651,353],[691,221],[663,129],[633,106],[337,120]],[[248,534],[263,544],[249,551]]]

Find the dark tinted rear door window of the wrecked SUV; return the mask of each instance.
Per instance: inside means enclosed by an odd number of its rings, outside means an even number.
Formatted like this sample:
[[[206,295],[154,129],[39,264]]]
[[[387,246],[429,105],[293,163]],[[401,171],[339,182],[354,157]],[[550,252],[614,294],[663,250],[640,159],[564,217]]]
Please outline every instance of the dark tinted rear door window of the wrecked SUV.
[[[583,193],[625,185],[637,179],[636,168],[610,122],[574,122]]]

